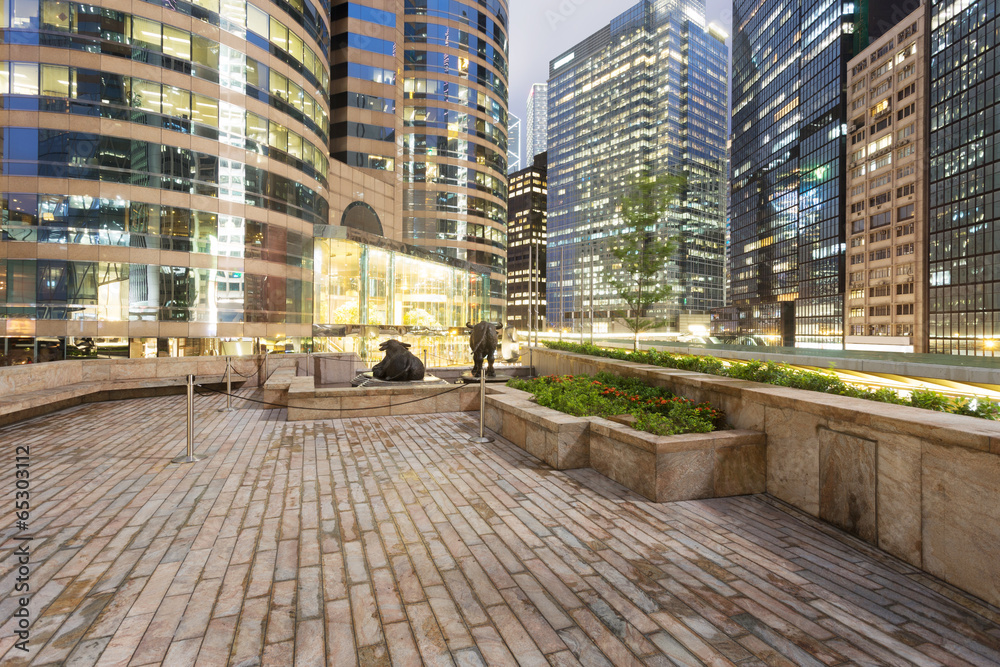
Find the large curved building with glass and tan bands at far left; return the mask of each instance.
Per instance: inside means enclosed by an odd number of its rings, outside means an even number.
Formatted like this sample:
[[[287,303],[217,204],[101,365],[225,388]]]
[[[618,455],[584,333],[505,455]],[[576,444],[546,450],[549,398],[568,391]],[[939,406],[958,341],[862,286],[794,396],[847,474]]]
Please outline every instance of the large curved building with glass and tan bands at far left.
[[[262,337],[299,349],[313,225],[329,219],[328,14],[311,0],[5,3],[6,352],[21,337],[42,359],[81,340],[131,356]]]

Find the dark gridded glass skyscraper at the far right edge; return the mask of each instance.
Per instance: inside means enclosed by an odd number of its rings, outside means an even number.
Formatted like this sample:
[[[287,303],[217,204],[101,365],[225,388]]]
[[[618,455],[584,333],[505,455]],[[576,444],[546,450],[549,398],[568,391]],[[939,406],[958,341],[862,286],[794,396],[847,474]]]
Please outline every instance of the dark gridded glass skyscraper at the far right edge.
[[[929,8],[930,351],[1000,348],[997,3]]]

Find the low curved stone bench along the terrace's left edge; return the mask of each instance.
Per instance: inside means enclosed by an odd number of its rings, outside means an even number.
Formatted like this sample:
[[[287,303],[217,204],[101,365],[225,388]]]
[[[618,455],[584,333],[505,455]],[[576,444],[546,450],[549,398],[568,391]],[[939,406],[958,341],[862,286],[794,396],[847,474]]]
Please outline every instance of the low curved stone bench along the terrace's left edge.
[[[197,376],[198,384],[225,382],[225,375]],[[187,377],[136,378],[74,382],[48,389],[36,389],[0,396],[0,426],[47,415],[82,403],[97,403],[126,398],[148,398],[180,394]]]

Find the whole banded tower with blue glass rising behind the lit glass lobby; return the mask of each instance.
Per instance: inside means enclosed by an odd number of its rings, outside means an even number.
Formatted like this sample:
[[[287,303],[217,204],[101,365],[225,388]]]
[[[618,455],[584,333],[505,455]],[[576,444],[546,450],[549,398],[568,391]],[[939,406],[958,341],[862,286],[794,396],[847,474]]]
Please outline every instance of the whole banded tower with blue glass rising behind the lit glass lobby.
[[[385,236],[480,267],[505,305],[507,3],[334,0],[333,157],[391,187]]]

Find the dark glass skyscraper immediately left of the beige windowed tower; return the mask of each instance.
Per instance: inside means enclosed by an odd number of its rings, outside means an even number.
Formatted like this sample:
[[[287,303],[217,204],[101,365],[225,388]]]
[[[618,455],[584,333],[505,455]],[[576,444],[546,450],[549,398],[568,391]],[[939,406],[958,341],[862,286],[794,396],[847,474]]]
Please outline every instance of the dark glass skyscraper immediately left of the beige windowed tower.
[[[877,3],[876,15],[854,0],[734,2],[732,300],[743,339],[843,345],[847,61],[908,4]]]

